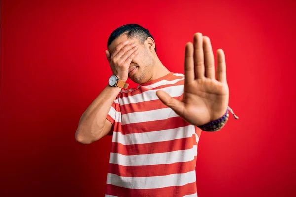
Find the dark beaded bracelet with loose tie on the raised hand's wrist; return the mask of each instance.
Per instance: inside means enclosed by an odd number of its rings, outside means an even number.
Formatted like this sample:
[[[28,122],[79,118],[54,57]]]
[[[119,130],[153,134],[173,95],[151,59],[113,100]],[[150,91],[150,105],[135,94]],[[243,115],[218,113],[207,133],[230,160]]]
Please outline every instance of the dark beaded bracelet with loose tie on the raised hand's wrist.
[[[218,131],[220,129],[222,129],[222,127],[224,127],[224,125],[226,124],[226,122],[228,121],[229,118],[229,113],[231,112],[232,115],[234,116],[235,119],[238,119],[238,116],[236,116],[233,112],[233,110],[228,106],[226,113],[219,119],[214,120],[212,122],[209,122],[205,125],[201,125],[198,126],[202,131],[207,131],[207,132],[214,132],[214,131]]]

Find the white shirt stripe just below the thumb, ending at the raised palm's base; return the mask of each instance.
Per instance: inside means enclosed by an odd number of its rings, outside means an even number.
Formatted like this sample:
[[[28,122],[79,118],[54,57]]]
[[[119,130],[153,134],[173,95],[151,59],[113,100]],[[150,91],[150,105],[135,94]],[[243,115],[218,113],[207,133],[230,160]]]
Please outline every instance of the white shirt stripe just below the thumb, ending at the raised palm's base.
[[[131,123],[142,123],[155,120],[166,120],[178,117],[171,108],[156,109],[150,111],[133,112],[122,115],[122,125]]]

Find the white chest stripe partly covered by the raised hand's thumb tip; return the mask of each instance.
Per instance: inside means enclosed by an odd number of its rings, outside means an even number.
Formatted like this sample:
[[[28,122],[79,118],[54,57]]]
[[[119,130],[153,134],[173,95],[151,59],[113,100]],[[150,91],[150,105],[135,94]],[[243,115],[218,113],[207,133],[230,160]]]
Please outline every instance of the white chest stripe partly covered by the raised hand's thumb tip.
[[[183,94],[184,85],[179,86],[169,86],[156,90],[148,90],[141,94],[136,94],[133,96],[118,98],[114,102],[119,103],[120,105],[130,104],[130,103],[138,103],[150,100],[158,100],[159,98],[156,95],[156,91],[163,90],[167,92],[171,97],[179,97]]]

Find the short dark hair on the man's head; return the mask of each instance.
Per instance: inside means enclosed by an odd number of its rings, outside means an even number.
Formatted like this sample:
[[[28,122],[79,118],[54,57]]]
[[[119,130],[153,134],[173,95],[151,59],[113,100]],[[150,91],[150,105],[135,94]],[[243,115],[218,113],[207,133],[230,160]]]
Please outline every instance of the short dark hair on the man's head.
[[[111,33],[111,35],[108,38],[107,48],[116,38],[118,38],[123,33],[126,33],[128,39],[137,37],[141,44],[143,44],[148,37],[151,37],[154,40],[148,29],[145,29],[138,24],[126,24],[117,28]]]

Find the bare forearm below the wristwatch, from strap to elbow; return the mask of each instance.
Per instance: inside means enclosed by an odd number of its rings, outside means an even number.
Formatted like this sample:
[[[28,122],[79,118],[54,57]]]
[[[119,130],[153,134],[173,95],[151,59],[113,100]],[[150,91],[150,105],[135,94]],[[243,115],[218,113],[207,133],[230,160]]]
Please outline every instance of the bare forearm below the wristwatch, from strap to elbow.
[[[83,143],[100,138],[108,112],[120,90],[119,87],[107,86],[89,105],[79,120],[76,131],[77,141]]]

